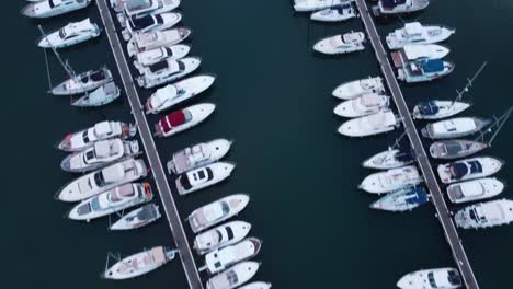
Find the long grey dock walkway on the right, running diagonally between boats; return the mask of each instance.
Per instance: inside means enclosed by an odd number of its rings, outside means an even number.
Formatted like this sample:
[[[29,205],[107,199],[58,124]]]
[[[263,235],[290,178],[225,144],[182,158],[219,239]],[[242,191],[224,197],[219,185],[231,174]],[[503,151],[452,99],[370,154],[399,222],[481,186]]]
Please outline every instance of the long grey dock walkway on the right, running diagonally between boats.
[[[377,33],[376,26],[374,24],[374,20],[372,19],[372,11],[368,10],[365,0],[356,0],[356,5],[364,23],[367,37],[371,39],[376,58],[381,68],[381,72],[385,76],[391,96],[402,118],[404,131],[407,132],[410,140],[413,153],[424,176],[425,184],[431,192],[433,205],[436,208],[436,216],[442,224],[445,238],[451,246],[453,257],[459,268],[464,284],[467,289],[478,289],[479,286],[467,258],[467,254],[465,253],[465,248],[461,245],[461,241],[459,239],[458,232],[456,231],[456,227],[453,222],[449,210],[447,209],[447,205],[445,204],[444,195],[438,186],[433,169],[431,167],[430,160],[417,131],[404,97],[402,96],[402,92],[397,82],[396,74],[394,73],[392,67],[388,60],[387,51],[381,44],[379,34]]]

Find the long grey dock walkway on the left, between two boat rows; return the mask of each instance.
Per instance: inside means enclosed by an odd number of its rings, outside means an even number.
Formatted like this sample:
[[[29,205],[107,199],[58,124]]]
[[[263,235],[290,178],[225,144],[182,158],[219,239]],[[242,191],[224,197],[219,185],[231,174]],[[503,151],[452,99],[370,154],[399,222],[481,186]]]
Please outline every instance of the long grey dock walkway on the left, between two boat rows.
[[[137,128],[139,129],[139,136],[145,147],[149,165],[152,170],[155,183],[157,184],[157,188],[160,194],[160,199],[168,218],[168,223],[171,228],[175,245],[180,252],[180,258],[182,261],[185,276],[189,281],[189,287],[191,289],[203,289],[203,284],[197,271],[196,263],[194,262],[193,253],[183,229],[181,221],[182,218],[180,217],[180,213],[176,209],[174,198],[171,194],[171,188],[166,178],[162,162],[160,160],[159,153],[157,152],[157,147],[155,144],[152,134],[149,129],[139,95],[134,85],[134,78],[132,77],[125,54],[123,53],[119,37],[116,34],[110,8],[106,0],[99,0],[96,3],[105,27],[105,33],[109,37],[109,43],[114,54],[117,69],[119,70],[119,76],[123,81],[126,96],[132,107],[132,113],[136,120]]]

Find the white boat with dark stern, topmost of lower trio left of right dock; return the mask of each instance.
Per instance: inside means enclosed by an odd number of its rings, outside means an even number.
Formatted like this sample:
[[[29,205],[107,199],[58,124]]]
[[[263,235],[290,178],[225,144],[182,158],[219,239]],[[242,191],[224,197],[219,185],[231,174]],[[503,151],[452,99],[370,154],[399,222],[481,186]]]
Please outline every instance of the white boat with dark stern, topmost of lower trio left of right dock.
[[[410,152],[398,149],[388,149],[371,157],[363,162],[364,167],[377,170],[390,170],[413,163],[414,159]]]

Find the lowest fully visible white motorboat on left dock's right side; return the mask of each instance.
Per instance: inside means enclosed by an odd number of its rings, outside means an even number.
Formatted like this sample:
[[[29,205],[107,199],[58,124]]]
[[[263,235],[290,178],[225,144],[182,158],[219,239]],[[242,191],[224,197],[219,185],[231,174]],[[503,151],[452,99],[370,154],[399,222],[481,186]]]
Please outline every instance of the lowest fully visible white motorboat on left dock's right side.
[[[206,289],[233,289],[248,282],[259,270],[256,262],[242,262],[208,279]]]

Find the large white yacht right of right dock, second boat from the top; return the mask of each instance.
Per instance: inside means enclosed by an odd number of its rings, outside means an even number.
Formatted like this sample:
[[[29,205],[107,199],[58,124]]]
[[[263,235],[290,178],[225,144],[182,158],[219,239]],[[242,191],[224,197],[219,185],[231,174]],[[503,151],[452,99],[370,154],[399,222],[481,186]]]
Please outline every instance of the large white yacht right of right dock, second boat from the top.
[[[407,45],[440,43],[451,37],[455,32],[455,30],[445,26],[423,26],[420,22],[410,22],[406,23],[404,27],[389,33],[386,41],[388,48],[399,49]]]

